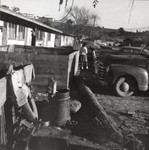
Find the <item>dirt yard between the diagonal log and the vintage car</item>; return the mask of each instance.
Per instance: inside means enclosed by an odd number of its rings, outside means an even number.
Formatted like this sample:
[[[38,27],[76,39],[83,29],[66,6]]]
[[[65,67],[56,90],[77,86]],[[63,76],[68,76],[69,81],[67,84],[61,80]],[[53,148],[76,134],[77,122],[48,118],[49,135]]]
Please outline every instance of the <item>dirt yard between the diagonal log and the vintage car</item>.
[[[81,75],[119,129],[128,136],[134,135],[145,144],[145,150],[149,150],[149,92],[122,98],[116,96],[112,87],[101,87],[90,71],[83,71]]]

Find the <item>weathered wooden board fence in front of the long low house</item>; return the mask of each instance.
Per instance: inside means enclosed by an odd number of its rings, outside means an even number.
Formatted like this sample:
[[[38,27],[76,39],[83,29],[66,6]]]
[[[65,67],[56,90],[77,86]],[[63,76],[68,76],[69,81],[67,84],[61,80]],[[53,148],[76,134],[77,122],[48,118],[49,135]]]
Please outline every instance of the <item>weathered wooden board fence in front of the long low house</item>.
[[[0,47],[0,70],[10,64],[32,63],[35,67],[34,86],[45,91],[49,77],[57,81],[58,88],[70,88],[71,79],[78,72],[79,53],[72,48],[45,48],[10,45]]]

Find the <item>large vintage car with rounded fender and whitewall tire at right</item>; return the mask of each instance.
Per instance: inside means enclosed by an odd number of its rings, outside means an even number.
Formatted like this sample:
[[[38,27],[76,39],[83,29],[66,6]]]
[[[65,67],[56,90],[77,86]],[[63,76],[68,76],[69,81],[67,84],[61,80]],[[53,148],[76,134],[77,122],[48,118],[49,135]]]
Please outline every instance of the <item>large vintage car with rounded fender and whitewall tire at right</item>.
[[[122,47],[114,52],[102,51],[98,57],[96,77],[102,85],[113,85],[116,93],[128,97],[149,85],[149,50]]]

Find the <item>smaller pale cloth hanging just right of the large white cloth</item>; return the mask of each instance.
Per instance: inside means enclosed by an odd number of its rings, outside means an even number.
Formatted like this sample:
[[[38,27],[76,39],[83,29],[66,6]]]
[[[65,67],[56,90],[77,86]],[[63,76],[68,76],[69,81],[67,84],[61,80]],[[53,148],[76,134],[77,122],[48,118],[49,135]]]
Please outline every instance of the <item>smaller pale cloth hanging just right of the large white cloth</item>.
[[[27,84],[30,84],[31,81],[35,79],[35,69],[32,64],[24,67],[24,76]]]

